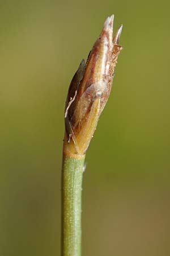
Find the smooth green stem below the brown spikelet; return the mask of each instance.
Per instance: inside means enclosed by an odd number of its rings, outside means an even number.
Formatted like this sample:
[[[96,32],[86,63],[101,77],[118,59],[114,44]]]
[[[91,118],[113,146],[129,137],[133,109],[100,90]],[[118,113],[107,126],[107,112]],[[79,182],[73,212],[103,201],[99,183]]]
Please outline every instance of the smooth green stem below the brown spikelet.
[[[63,156],[62,256],[80,256],[82,240],[82,178],[84,158]]]

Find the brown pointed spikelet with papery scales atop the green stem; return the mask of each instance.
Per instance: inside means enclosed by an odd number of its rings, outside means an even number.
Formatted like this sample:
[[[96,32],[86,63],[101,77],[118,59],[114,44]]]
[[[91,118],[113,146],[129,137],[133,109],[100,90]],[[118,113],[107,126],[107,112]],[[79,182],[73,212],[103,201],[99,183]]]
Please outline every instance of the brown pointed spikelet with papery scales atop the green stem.
[[[118,45],[122,25],[113,38],[113,18],[112,15],[105,20],[86,64],[82,60],[67,94],[64,151],[75,157],[86,153],[111,92],[114,68],[122,49]]]

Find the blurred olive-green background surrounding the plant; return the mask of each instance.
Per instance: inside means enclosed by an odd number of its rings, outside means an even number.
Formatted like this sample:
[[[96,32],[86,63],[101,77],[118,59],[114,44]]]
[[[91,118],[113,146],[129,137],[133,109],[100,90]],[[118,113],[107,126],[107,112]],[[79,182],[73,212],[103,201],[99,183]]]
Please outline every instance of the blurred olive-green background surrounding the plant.
[[[170,255],[169,1],[1,1],[0,256],[60,255],[63,109],[105,18],[124,24],[87,153],[83,255]]]

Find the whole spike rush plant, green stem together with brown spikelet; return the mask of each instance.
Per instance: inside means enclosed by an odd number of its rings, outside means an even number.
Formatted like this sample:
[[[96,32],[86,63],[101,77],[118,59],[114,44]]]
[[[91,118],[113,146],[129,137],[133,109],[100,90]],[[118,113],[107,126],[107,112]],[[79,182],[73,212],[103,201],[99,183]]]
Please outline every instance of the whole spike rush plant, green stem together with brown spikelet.
[[[105,20],[85,63],[79,65],[67,94],[62,164],[62,256],[81,255],[81,201],[84,158],[111,92],[122,49],[122,25],[113,37],[114,15]]]

